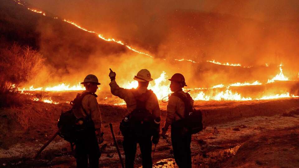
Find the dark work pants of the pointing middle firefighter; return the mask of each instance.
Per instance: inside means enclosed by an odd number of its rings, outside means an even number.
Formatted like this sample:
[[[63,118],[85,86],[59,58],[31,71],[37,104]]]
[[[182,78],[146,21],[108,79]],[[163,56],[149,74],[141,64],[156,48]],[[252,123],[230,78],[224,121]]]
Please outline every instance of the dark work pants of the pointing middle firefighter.
[[[134,167],[135,154],[137,150],[137,143],[139,143],[140,152],[142,155],[142,167],[152,168],[152,141],[151,137],[135,138],[130,135],[124,136],[123,148],[125,151],[125,165],[126,168]]]

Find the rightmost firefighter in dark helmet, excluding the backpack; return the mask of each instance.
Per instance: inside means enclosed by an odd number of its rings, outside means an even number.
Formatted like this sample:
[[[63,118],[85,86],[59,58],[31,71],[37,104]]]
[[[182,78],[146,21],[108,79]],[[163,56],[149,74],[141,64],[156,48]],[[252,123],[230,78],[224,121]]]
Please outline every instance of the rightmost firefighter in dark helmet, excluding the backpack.
[[[187,93],[183,91],[183,87],[187,85],[182,74],[176,73],[168,80],[171,81],[170,90],[172,92],[177,92],[176,94],[179,93],[185,97],[187,96]],[[175,94],[169,96],[166,119],[161,136],[166,138],[168,127],[171,126],[171,142],[174,160],[178,167],[191,168],[191,133],[183,126],[174,125],[176,121],[184,117],[185,105],[183,100],[174,95]],[[193,106],[193,101],[190,103]]]

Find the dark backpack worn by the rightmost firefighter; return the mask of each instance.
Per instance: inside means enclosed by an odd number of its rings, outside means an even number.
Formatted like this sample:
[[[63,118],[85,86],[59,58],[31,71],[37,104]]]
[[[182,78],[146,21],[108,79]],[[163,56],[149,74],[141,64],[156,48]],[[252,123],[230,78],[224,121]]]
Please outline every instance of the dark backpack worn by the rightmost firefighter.
[[[191,134],[196,134],[202,131],[202,112],[200,110],[196,110],[192,105],[191,101],[192,97],[187,93],[187,97],[184,95],[174,92],[172,94],[183,100],[185,104],[184,116],[180,115],[177,111],[176,114],[181,118],[178,121],[173,123],[174,127],[185,127]]]

